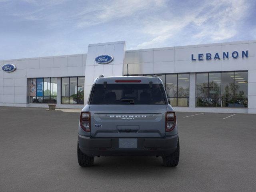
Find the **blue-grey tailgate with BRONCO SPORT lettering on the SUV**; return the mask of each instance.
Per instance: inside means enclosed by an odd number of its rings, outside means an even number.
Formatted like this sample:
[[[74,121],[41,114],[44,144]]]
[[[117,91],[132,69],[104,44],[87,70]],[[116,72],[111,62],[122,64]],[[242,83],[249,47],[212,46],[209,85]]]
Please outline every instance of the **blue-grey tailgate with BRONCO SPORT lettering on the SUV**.
[[[164,137],[166,105],[90,105],[92,137]]]

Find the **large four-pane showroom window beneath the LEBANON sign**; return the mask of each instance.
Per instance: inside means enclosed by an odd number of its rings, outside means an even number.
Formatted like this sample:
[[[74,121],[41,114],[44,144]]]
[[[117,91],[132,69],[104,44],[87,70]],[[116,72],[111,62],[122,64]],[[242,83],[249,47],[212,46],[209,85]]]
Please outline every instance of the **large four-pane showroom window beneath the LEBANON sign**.
[[[196,106],[247,107],[248,72],[196,74]]]

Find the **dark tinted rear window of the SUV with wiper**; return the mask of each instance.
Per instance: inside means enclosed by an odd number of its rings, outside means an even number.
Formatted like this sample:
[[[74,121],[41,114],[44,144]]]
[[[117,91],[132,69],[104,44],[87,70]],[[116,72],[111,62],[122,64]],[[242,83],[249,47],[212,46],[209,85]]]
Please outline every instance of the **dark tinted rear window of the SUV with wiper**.
[[[95,84],[90,104],[165,104],[162,84]]]

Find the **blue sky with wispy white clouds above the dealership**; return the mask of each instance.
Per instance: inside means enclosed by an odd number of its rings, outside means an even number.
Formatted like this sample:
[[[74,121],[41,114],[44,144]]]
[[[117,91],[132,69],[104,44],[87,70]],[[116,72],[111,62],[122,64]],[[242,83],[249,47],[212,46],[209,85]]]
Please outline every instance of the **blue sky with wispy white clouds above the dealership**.
[[[0,60],[256,39],[255,0],[0,0]]]

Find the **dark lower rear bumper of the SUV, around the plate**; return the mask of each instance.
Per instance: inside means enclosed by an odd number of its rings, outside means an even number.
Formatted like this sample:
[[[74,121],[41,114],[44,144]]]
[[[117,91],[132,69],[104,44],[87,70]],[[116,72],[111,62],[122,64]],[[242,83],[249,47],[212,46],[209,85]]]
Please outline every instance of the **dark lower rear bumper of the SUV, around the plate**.
[[[169,156],[178,143],[178,134],[164,138],[137,138],[137,148],[119,148],[119,138],[91,138],[78,134],[80,150],[88,156]]]

